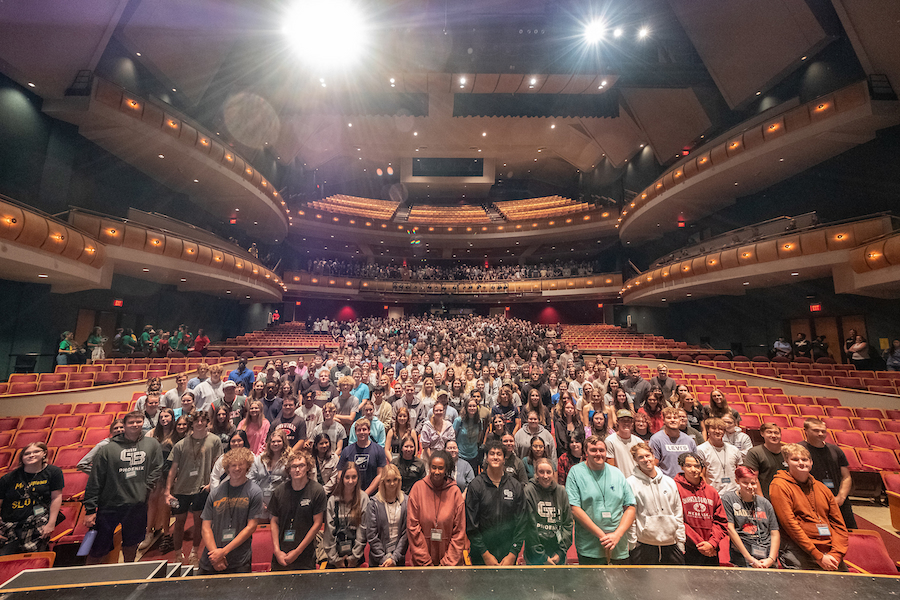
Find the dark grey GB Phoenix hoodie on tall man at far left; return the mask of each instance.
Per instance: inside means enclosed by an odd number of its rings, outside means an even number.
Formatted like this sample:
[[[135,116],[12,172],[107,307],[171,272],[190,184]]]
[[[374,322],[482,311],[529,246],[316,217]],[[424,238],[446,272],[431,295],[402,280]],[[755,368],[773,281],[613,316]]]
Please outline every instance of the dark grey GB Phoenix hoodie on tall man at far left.
[[[124,433],[112,438],[94,455],[84,490],[84,512],[98,508],[130,506],[147,501],[162,474],[162,448],[155,439],[141,435],[132,442]]]

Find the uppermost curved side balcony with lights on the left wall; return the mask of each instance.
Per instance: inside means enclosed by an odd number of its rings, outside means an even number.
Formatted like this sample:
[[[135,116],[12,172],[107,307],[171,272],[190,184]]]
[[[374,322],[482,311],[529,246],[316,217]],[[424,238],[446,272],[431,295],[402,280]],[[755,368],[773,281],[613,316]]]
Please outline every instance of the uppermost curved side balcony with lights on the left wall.
[[[46,100],[45,113],[249,235],[284,239],[281,195],[216,136],[171,106],[95,77],[89,96]]]

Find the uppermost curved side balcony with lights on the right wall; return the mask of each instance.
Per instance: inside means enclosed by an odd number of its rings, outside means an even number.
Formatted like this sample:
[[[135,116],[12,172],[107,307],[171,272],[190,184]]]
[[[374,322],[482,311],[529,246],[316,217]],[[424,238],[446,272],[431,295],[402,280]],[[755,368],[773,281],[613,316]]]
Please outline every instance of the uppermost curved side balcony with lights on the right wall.
[[[675,163],[619,217],[619,237],[659,237],[734,204],[900,123],[900,102],[861,81],[812,102],[787,103],[742,123]]]

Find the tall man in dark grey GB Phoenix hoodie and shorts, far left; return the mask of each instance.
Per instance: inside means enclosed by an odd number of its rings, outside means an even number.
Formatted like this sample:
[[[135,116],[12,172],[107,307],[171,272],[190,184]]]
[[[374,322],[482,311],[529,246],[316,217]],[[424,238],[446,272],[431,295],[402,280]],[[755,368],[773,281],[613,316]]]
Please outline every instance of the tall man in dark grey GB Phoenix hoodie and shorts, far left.
[[[113,549],[113,533],[122,525],[122,554],[134,562],[147,529],[147,496],[162,474],[162,448],[143,434],[144,415],[125,415],[125,431],[94,456],[84,491],[84,524],[97,537],[88,564],[98,564]]]

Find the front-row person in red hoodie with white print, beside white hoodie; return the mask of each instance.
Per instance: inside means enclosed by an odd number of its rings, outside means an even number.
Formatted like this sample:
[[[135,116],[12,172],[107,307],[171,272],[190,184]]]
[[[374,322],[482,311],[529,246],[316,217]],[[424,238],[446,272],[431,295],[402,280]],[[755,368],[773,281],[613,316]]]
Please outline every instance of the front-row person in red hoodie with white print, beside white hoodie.
[[[683,473],[675,476],[684,508],[684,564],[718,567],[719,543],[727,537],[728,516],[719,492],[703,479],[703,458],[695,452],[678,457]]]

